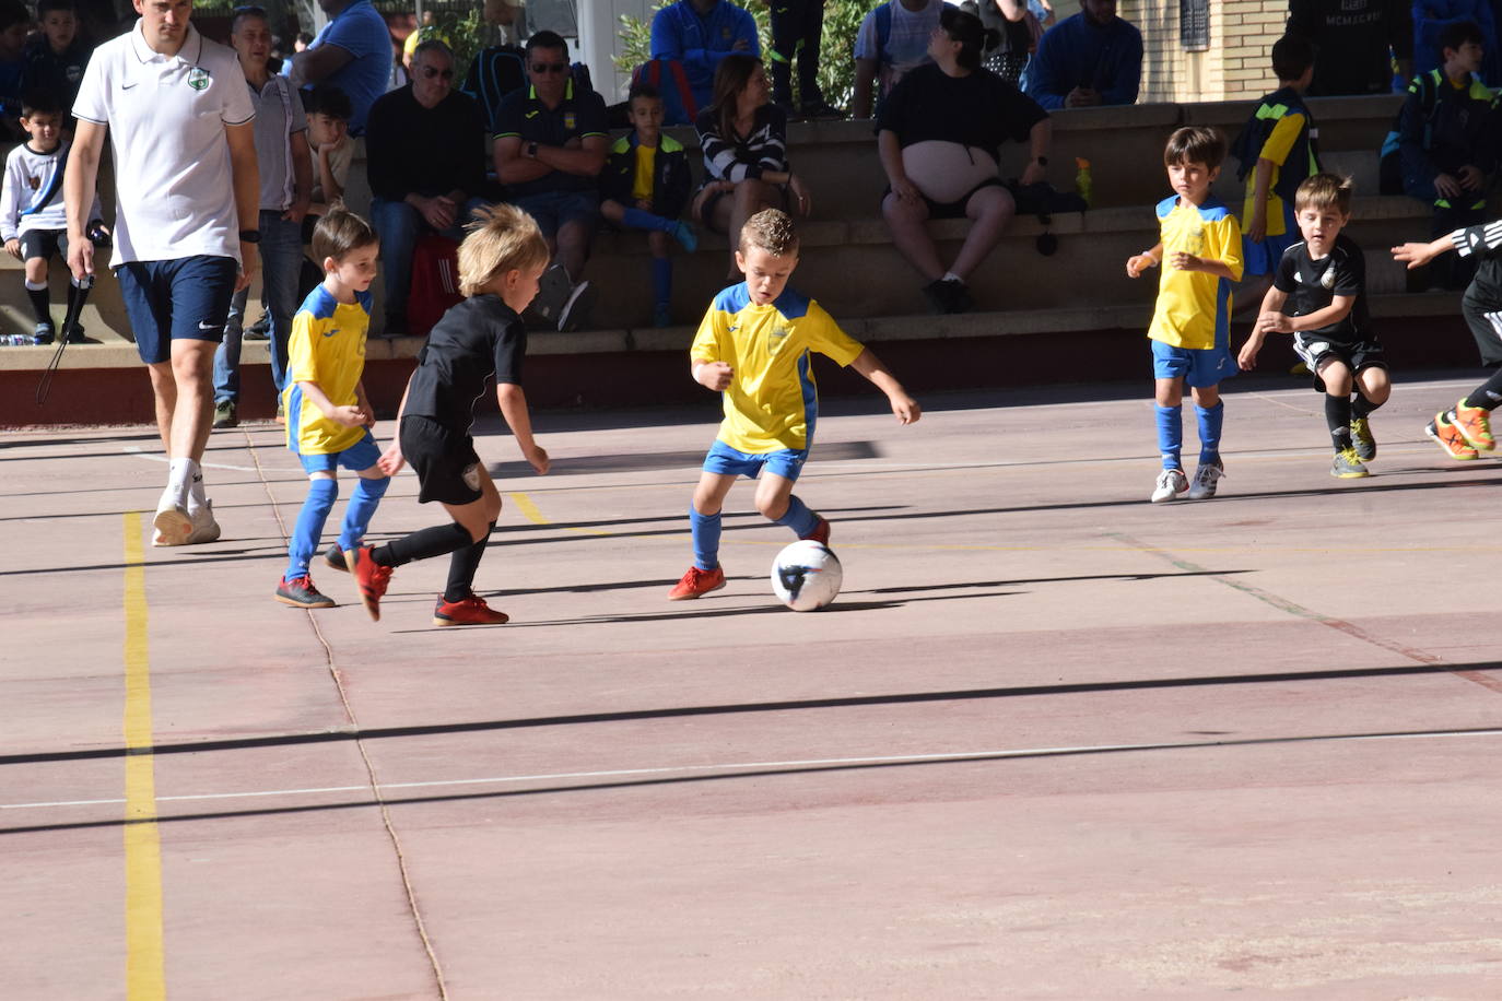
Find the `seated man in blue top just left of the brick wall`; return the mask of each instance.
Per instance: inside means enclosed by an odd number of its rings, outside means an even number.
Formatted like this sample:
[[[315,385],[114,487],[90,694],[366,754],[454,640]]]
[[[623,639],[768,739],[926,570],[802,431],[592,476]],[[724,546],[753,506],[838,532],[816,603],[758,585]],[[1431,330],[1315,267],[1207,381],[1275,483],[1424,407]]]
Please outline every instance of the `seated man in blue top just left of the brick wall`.
[[[1027,96],[1050,110],[1136,104],[1140,84],[1142,32],[1116,17],[1116,0],[1080,0],[1027,68]]]

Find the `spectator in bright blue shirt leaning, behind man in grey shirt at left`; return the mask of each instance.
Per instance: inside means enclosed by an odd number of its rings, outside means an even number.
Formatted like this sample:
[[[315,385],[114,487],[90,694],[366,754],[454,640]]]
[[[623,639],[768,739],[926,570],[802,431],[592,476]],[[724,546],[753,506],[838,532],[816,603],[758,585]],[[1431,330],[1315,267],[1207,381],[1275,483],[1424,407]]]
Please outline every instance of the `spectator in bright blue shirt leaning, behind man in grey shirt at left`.
[[[371,0],[318,0],[318,6],[329,23],[293,59],[291,80],[299,87],[332,84],[347,93],[354,111],[350,135],[363,135],[371,105],[391,83],[391,30]]]

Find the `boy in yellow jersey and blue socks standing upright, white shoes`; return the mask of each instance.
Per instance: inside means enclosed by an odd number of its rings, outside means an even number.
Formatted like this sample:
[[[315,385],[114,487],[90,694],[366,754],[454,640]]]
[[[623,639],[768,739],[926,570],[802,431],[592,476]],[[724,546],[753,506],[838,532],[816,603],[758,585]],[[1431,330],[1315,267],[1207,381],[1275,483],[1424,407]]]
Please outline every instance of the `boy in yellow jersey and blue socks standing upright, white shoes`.
[[[1139,278],[1163,264],[1158,306],[1148,336],[1157,380],[1158,453],[1163,471],[1152,501],[1215,497],[1215,482],[1226,474],[1220,458],[1224,404],[1220,383],[1236,374],[1230,356],[1230,287],[1241,281],[1241,227],[1226,203],[1211,195],[1211,185],[1226,159],[1226,138],[1215,129],[1184,128],[1169,137],[1163,161],[1176,192],[1158,203],[1163,239],[1126,260],[1126,275]],[[1194,393],[1200,431],[1200,465],[1194,486],[1184,476],[1184,387]]]

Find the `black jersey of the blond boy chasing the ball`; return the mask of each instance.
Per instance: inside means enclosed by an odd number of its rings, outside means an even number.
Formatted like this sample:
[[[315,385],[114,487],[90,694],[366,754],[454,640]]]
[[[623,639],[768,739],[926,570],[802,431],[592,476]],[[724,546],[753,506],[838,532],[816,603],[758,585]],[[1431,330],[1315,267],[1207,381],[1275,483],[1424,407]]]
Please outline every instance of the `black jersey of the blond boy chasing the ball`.
[[[499,296],[475,296],[443,314],[418,356],[403,414],[431,417],[464,434],[485,383],[521,384],[527,329]]]

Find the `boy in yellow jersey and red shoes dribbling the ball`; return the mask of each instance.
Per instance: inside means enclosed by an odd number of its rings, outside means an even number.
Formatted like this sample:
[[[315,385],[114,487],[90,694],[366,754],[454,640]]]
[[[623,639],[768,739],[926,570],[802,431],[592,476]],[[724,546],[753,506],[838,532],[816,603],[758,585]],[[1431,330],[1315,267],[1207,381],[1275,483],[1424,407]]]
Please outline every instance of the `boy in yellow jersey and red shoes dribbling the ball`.
[[[746,281],[715,297],[688,353],[694,380],[724,393],[725,419],[688,510],[694,566],[668,591],[671,602],[725,585],[719,509],[737,476],[760,479],[756,507],[762,515],[799,539],[829,542],[829,522],[793,494],[819,416],[814,351],[871,380],[886,393],[898,423],[922,416],[880,359],[852,341],[817,302],[787,288],[798,267],[798,233],[787,213],[765,209],[746,219],[736,264]]]

